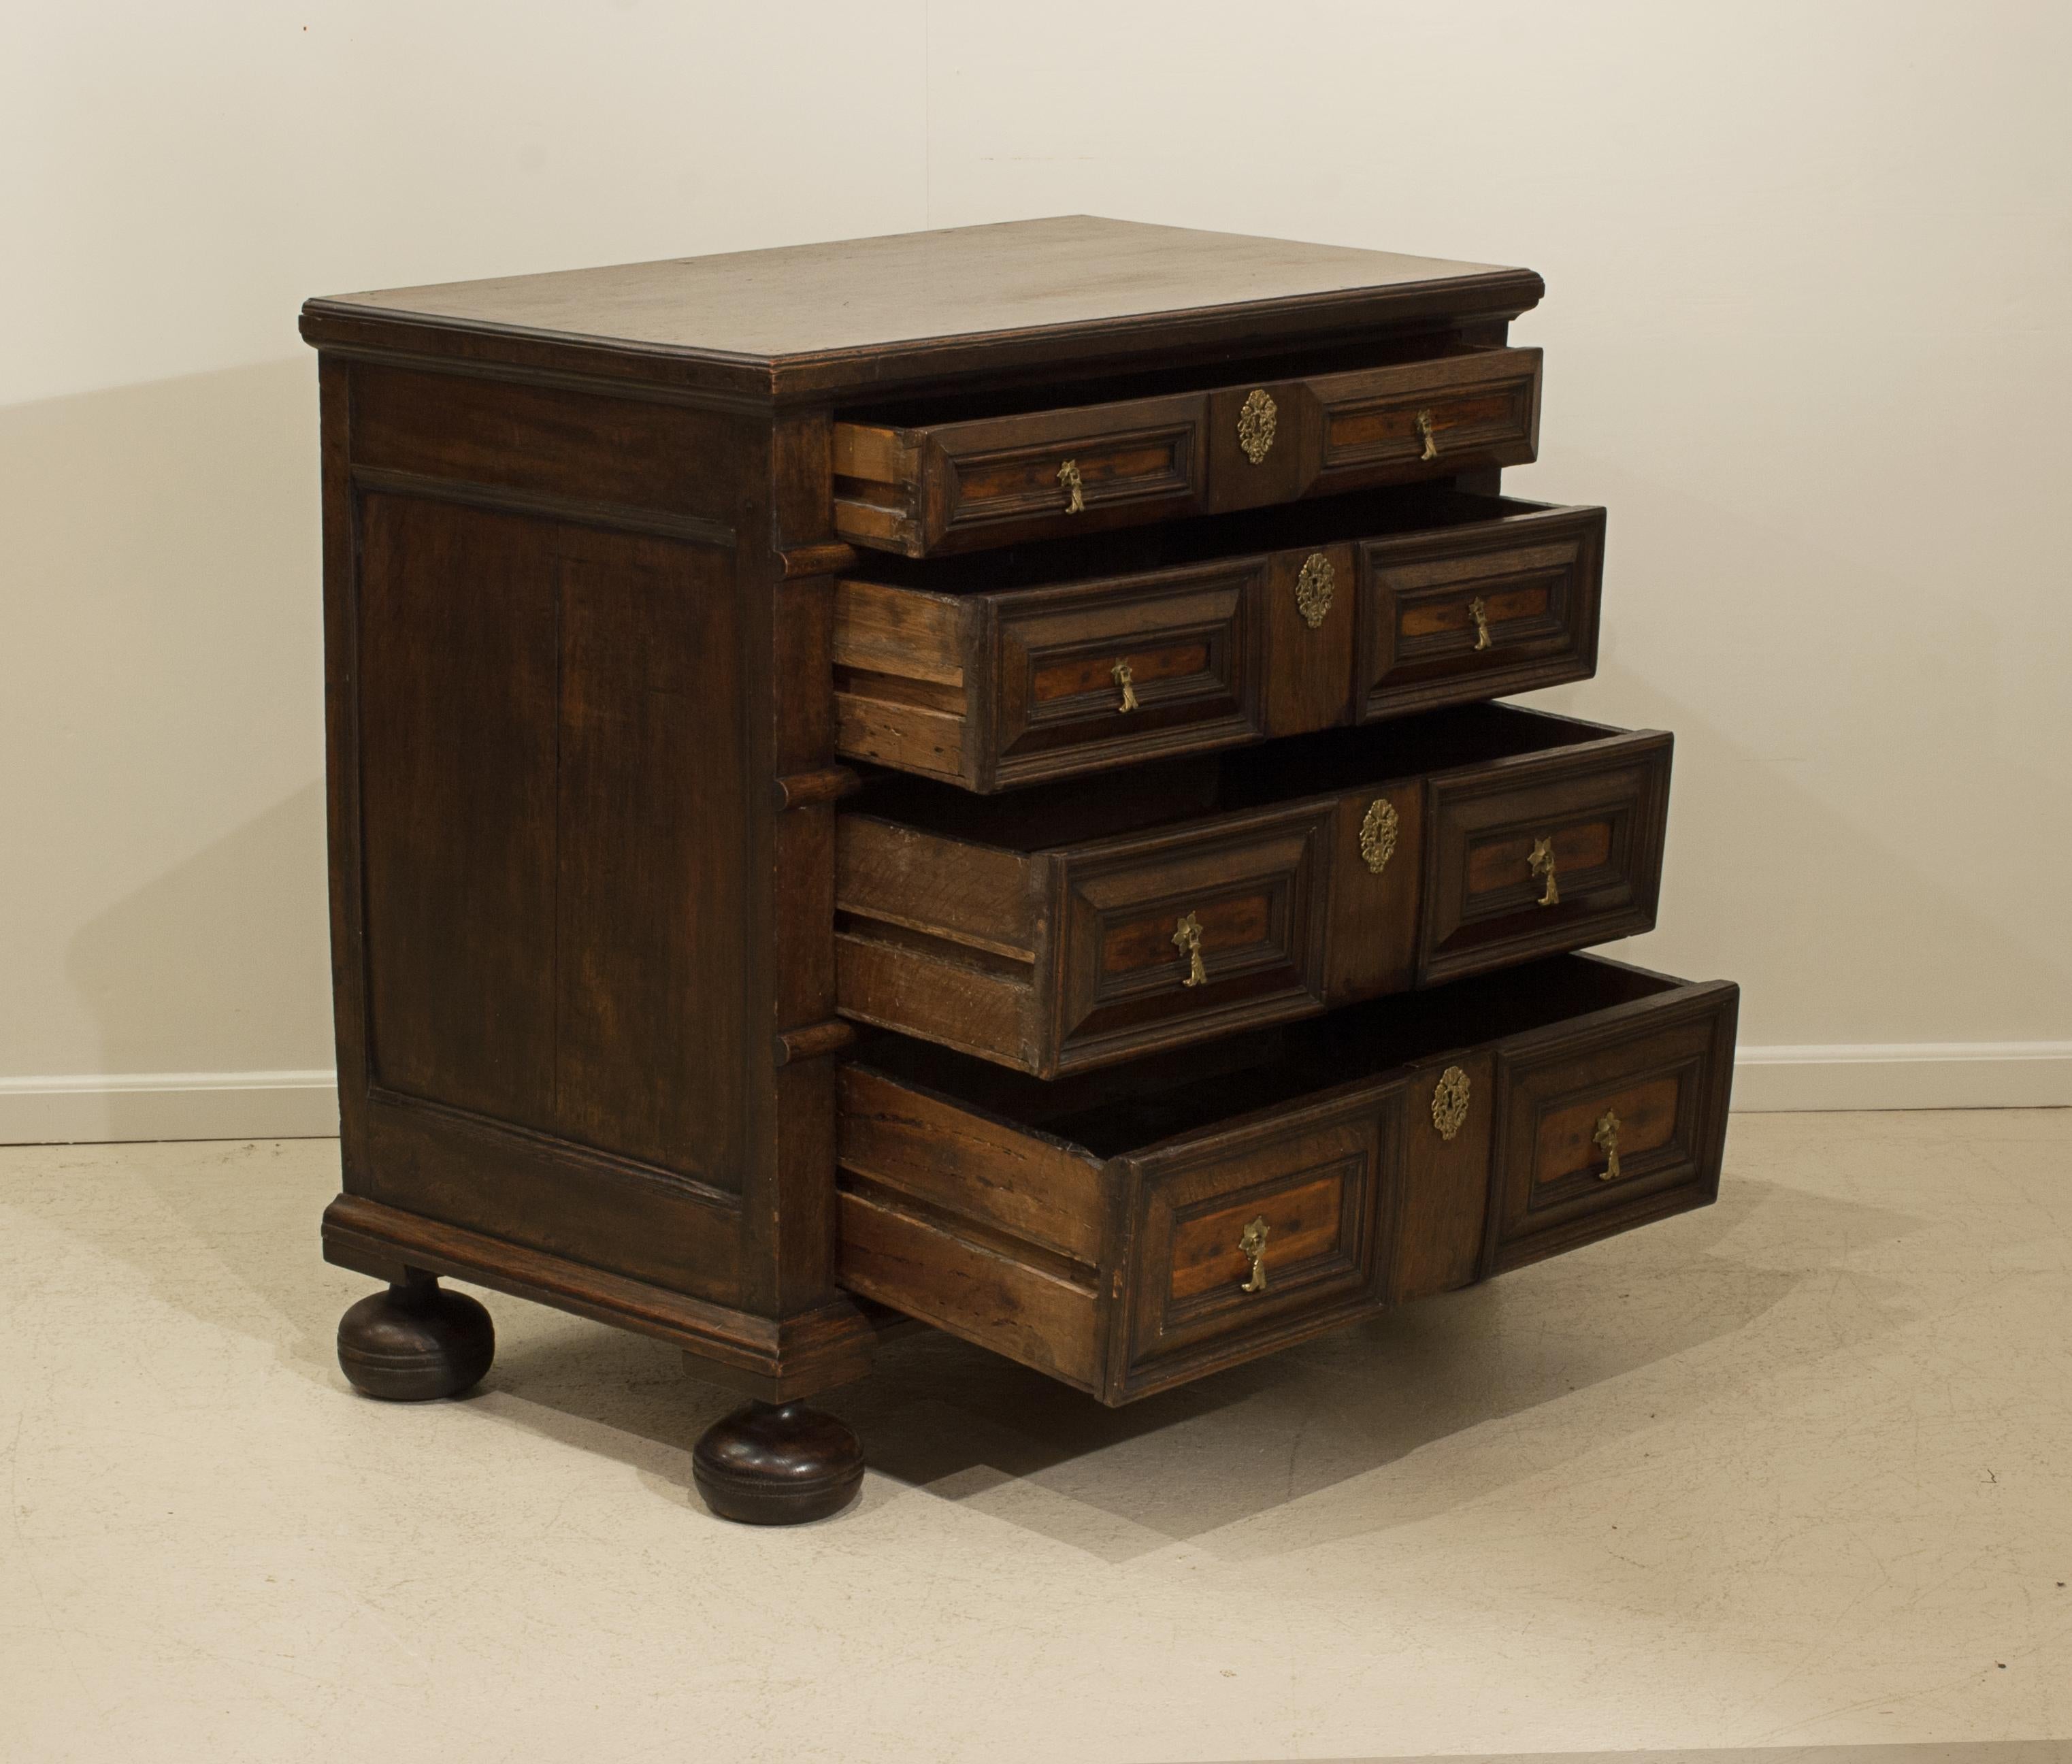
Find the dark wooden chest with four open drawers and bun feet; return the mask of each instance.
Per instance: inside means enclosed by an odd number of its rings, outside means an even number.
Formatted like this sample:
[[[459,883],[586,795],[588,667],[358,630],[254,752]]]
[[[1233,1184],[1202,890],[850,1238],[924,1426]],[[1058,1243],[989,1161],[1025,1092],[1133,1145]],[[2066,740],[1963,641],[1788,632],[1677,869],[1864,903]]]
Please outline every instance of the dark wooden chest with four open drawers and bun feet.
[[[344,1192],[381,1397],[460,1277],[752,1399],[916,1320],[1119,1403],[1714,1198],[1734,989],[1604,510],[1506,497],[1523,269],[1015,222],[311,301]]]

